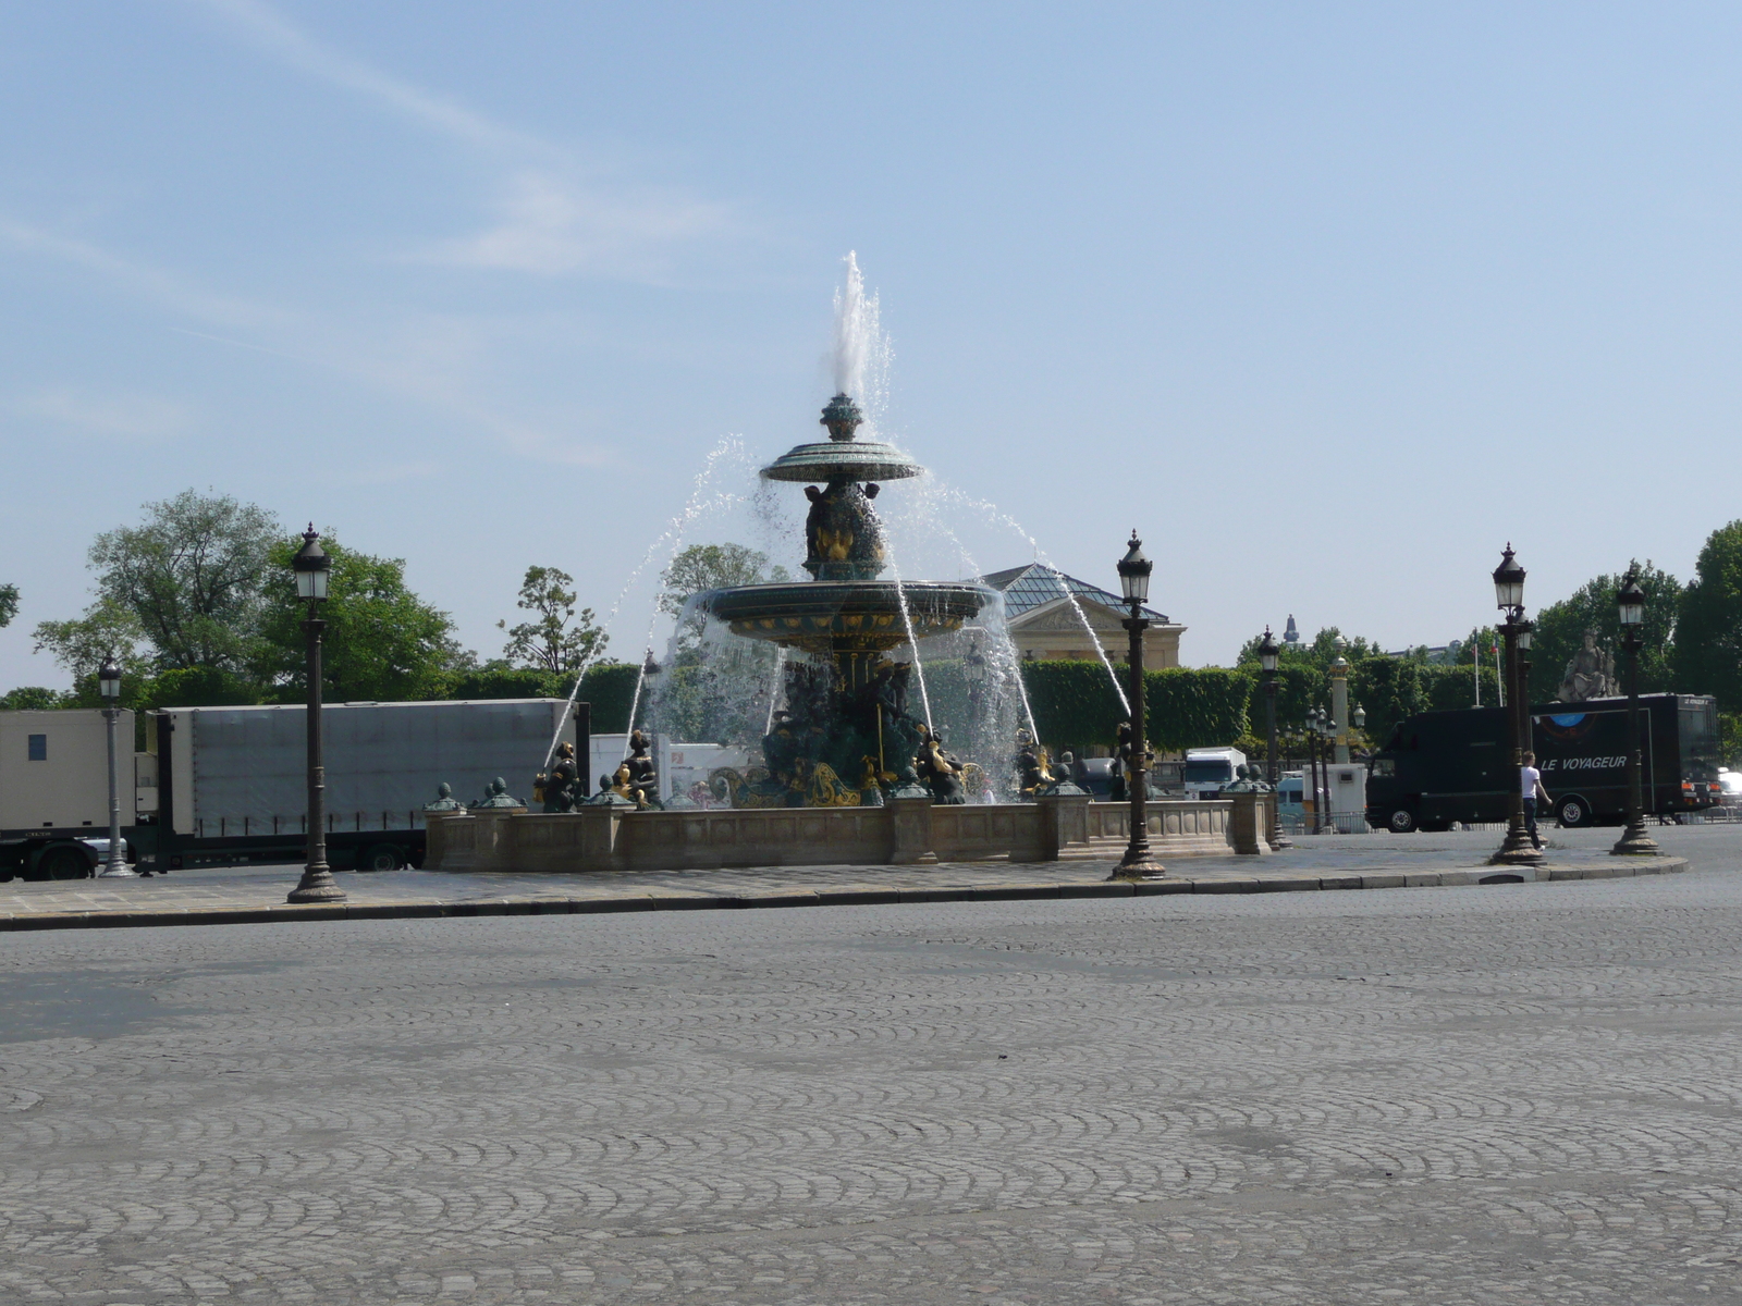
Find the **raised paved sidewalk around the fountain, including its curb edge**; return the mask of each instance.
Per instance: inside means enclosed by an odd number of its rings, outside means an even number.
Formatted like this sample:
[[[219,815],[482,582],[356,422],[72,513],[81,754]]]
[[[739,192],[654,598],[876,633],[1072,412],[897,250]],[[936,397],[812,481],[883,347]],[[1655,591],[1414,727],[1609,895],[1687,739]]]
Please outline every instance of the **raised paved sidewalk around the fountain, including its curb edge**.
[[[1613,832],[1608,836],[1613,841]],[[392,871],[336,876],[348,900],[293,907],[300,867],[176,871],[152,879],[14,881],[0,886],[0,932],[94,926],[249,925],[277,921],[514,916],[617,911],[862,905],[1160,893],[1279,893],[1449,888],[1542,879],[1674,874],[1688,857],[1610,857],[1550,841],[1535,869],[1493,867],[1489,834],[1324,836],[1270,857],[1186,857],[1164,879],[1108,881],[1111,862],[817,865],[645,874],[455,874]],[[1704,843],[1704,841],[1702,841]],[[1742,843],[1726,839],[1725,845]],[[1679,852],[1679,850],[1674,850]],[[1691,850],[1690,850],[1691,852]],[[1705,848],[1698,852],[1705,853]],[[1733,860],[1730,846],[1712,848]],[[1700,864],[1709,858],[1700,857]]]

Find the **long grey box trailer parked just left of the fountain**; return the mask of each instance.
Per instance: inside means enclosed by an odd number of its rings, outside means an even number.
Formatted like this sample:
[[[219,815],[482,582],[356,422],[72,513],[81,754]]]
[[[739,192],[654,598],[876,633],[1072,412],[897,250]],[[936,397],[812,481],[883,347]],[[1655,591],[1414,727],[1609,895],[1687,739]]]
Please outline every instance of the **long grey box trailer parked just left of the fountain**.
[[[300,860],[308,831],[308,714],[300,705],[174,707],[157,714],[152,867]],[[561,698],[324,707],[327,860],[394,869],[423,860],[423,804],[462,803],[502,778],[531,803],[550,740],[575,742]],[[143,841],[141,841],[143,843]]]

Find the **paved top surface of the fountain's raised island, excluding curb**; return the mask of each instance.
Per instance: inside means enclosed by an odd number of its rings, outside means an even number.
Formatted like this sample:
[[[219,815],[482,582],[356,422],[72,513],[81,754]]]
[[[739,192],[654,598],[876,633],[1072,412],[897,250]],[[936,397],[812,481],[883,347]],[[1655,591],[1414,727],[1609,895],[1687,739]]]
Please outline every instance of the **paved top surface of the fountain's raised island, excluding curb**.
[[[1742,825],[1671,825],[1653,829],[1665,853],[1695,865],[1742,862]],[[1554,831],[1550,858],[1568,871],[1594,867],[1604,874],[1625,871],[1632,858],[1608,857],[1617,831]],[[1481,874],[1500,834],[1364,834],[1301,838],[1273,857],[1179,857],[1169,864],[1178,883],[1235,888],[1242,881],[1270,886],[1317,888],[1324,876],[1364,876],[1366,885],[1397,886],[1399,876],[1448,874],[1470,881]],[[340,874],[340,885],[357,905],[406,902],[490,902],[502,899],[622,899],[683,895],[787,895],[793,892],[850,892],[876,888],[1017,888],[1038,885],[1092,885],[1106,879],[1111,862],[974,862],[946,865],[787,865],[749,871],[658,871],[641,874],[448,874],[395,871]],[[1679,867],[1669,867],[1679,869]],[[0,928],[9,919],[44,912],[117,911],[258,911],[284,904],[300,867],[186,869],[150,879],[61,879],[0,885]],[[1289,883],[1289,881],[1312,883]]]

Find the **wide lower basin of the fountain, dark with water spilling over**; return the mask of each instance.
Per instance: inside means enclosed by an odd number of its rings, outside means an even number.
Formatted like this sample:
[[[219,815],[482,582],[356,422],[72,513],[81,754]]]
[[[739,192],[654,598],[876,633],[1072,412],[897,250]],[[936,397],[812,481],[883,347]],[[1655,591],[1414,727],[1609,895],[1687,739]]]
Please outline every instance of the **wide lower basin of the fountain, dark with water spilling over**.
[[[887,651],[909,639],[960,630],[995,590],[972,582],[800,580],[712,590],[709,613],[732,634],[812,653]],[[902,620],[902,599],[908,620]]]

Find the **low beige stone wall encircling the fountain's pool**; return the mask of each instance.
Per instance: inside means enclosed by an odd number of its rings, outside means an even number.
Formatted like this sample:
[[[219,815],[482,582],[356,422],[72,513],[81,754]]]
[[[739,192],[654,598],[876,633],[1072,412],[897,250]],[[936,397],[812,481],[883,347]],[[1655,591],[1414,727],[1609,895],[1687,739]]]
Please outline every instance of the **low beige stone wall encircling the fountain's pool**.
[[[1268,796],[1261,796],[1268,801]],[[1148,810],[1158,860],[1268,852],[1252,796],[1160,801]],[[1240,806],[1240,811],[1235,808]],[[939,806],[897,798],[881,808],[726,808],[430,815],[429,871],[714,871],[756,865],[1117,860],[1131,808],[1084,796]]]

